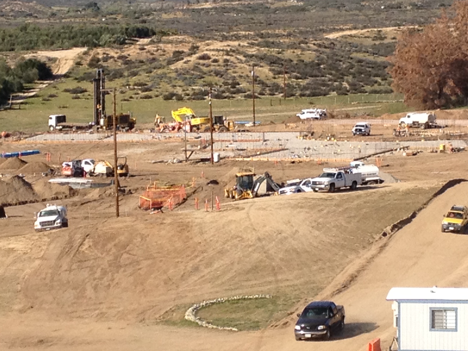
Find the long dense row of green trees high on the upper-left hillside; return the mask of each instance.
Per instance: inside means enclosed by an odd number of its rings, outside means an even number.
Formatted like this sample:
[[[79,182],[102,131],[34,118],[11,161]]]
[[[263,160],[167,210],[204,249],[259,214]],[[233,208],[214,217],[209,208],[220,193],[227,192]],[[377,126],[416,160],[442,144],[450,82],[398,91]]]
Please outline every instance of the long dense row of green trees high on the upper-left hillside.
[[[0,51],[108,47],[123,45],[131,38],[169,34],[173,33],[141,25],[64,24],[43,27],[25,23],[15,28],[0,29]]]

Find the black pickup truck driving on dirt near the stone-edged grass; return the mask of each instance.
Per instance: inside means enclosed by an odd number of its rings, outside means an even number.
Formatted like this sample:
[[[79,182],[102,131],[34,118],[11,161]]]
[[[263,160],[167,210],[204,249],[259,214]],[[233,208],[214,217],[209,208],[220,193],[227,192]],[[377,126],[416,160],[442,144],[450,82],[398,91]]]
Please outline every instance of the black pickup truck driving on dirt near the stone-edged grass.
[[[309,303],[294,327],[296,340],[323,337],[328,340],[336,331],[344,328],[344,307],[336,306],[331,301]]]

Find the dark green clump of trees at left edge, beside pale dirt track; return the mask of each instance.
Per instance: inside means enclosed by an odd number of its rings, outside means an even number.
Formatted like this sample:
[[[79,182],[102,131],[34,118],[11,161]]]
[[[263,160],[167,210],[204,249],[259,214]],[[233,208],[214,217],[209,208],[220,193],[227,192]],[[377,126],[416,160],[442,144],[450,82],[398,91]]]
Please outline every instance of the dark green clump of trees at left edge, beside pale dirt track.
[[[0,104],[8,101],[12,93],[21,92],[24,84],[52,77],[49,66],[38,59],[21,59],[15,67],[0,59]]]

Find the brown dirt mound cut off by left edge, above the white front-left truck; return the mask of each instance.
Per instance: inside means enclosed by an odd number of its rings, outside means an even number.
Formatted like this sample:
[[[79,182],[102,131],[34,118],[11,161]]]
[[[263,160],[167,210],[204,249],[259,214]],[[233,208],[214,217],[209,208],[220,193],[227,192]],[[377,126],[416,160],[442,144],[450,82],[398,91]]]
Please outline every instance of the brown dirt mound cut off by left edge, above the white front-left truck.
[[[22,177],[0,179],[0,204],[18,204],[37,200],[31,184]]]

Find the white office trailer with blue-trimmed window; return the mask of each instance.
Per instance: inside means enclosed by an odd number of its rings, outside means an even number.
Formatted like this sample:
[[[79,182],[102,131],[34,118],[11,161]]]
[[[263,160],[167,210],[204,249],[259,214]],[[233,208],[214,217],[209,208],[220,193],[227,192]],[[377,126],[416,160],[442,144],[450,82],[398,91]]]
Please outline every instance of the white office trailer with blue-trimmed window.
[[[392,288],[399,351],[468,350],[468,288]]]

